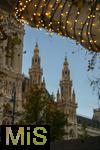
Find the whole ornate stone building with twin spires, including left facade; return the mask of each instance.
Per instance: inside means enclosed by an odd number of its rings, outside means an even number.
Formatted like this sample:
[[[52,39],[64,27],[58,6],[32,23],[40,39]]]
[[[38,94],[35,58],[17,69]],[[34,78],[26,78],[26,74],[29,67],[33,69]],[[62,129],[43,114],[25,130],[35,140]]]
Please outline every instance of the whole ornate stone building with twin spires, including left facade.
[[[22,75],[23,26],[19,26],[12,16],[2,10],[0,10],[0,18],[2,19],[0,26],[3,26],[5,31],[5,38],[0,39],[0,124],[12,124],[13,102],[16,100],[15,122],[17,122],[31,84],[37,84],[47,93],[48,90],[43,78],[38,43],[35,45],[29,77],[24,77]],[[55,103],[68,120],[68,124],[65,126],[65,139],[83,135],[100,135],[99,109],[94,111],[93,119],[78,116],[76,113],[76,96],[70,78],[67,57],[64,59],[60,90],[57,92]]]

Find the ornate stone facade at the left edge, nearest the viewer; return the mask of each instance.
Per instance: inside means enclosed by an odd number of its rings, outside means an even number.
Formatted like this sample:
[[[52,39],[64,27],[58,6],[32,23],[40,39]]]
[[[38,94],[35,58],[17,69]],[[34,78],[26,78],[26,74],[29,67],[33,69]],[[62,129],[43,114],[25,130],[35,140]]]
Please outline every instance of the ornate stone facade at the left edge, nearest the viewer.
[[[14,95],[15,112],[21,110],[24,28],[3,10],[0,18],[5,34],[5,38],[0,39],[0,124],[11,124]]]

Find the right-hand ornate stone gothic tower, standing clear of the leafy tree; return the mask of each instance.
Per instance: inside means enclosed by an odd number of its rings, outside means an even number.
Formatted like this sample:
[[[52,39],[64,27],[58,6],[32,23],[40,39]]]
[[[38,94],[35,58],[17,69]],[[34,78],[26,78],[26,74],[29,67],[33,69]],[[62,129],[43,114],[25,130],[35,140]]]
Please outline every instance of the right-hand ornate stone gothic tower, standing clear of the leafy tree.
[[[67,138],[76,138],[76,98],[75,92],[72,92],[72,81],[70,79],[70,70],[68,67],[67,58],[65,57],[62,69],[62,77],[60,80],[60,92],[57,92],[57,105],[58,109],[67,117],[68,124],[70,126],[66,126],[65,130],[67,132]],[[67,131],[68,130],[68,131]],[[65,138],[66,138],[65,137]]]

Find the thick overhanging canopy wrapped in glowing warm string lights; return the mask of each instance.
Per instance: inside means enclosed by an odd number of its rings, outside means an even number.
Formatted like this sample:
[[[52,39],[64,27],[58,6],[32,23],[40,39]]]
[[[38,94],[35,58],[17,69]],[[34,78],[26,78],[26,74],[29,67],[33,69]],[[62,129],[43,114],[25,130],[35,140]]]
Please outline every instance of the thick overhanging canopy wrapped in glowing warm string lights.
[[[20,23],[45,28],[100,52],[99,0],[14,0],[14,7],[12,13]]]

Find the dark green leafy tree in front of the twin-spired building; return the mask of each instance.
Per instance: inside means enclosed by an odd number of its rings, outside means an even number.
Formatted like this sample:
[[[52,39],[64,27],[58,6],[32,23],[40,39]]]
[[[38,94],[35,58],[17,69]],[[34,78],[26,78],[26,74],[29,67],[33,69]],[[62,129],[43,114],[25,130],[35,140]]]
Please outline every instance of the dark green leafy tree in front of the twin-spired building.
[[[20,124],[50,125],[51,141],[59,140],[64,135],[66,117],[57,110],[52,96],[34,86],[30,89],[24,105],[24,115]]]

